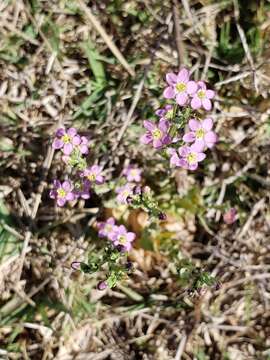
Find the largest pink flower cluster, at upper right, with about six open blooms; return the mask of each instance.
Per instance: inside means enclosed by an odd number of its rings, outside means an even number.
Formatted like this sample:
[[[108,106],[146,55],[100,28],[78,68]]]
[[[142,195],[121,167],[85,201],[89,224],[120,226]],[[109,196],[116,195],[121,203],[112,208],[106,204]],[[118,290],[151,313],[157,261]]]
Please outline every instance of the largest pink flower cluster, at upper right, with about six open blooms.
[[[174,101],[174,104],[167,104],[156,111],[158,123],[144,121],[146,134],[140,141],[142,144],[151,144],[156,149],[172,146],[169,149],[170,165],[196,170],[198,163],[206,157],[205,150],[211,149],[218,141],[213,131],[213,120],[209,117],[199,120],[196,114],[196,110],[200,108],[207,111],[212,109],[211,100],[215,92],[207,89],[203,81],[190,80],[187,69],[180,70],[178,74],[168,73],[166,81],[168,86],[163,96]],[[184,118],[184,124],[179,128],[177,116],[185,116],[184,107],[190,118]],[[185,124],[188,125],[188,131],[182,134]]]

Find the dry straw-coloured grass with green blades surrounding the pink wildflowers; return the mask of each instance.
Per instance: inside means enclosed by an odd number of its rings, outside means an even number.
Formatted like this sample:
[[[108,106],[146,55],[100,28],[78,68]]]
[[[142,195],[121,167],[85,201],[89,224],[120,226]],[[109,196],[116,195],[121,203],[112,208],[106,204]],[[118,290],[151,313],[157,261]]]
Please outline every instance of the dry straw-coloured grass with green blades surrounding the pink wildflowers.
[[[0,1],[1,359],[269,359],[270,7],[239,2]],[[169,185],[138,136],[181,47],[194,77],[218,91],[220,142],[196,175],[175,172]],[[169,214],[155,251],[138,244],[134,273],[113,290],[70,268],[94,249],[99,199],[64,210],[48,199],[60,123],[91,134],[109,178],[137,161]],[[223,223],[225,205],[237,224]],[[145,227],[143,213],[125,216]],[[168,232],[219,288],[183,291],[158,251]]]

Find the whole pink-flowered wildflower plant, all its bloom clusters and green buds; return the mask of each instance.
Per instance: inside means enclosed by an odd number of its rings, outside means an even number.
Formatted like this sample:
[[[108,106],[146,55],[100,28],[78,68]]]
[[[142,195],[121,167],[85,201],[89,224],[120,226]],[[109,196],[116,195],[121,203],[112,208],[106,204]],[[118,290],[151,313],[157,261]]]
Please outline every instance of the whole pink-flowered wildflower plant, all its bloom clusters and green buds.
[[[169,157],[171,167],[194,171],[206,158],[207,149],[213,148],[217,142],[213,120],[209,117],[201,119],[202,111],[199,111],[211,110],[215,93],[209,90],[203,81],[195,82],[190,79],[187,69],[180,70],[178,74],[167,74],[166,81],[168,86],[163,95],[169,103],[155,112],[158,117],[156,122],[143,122],[146,133],[140,141],[144,145],[153,146],[166,159]],[[79,199],[91,198],[93,192],[102,195],[98,187],[106,183],[107,179],[100,165],[88,163],[90,146],[90,140],[81,136],[75,128],[57,129],[52,147],[60,151],[66,168],[65,174],[68,174],[63,180],[53,181],[49,195],[55,199],[57,206],[63,207],[67,203],[74,206]],[[166,220],[166,214],[161,211],[154,192],[144,184],[143,169],[136,164],[124,167],[120,178],[111,181],[108,188],[113,193],[116,206],[142,209],[149,214],[150,220]],[[106,279],[97,285],[99,290],[104,290],[114,287],[131,272],[132,265],[128,254],[132,250],[136,235],[124,224],[117,224],[113,217],[98,221],[96,232],[100,239],[99,250],[91,253],[87,263],[74,261],[72,268],[88,274],[105,270]],[[187,266],[190,276],[194,273],[191,268],[191,265]],[[183,270],[179,271],[182,276]],[[198,272],[196,274],[196,281],[200,283],[198,286],[212,281],[208,275]]]

